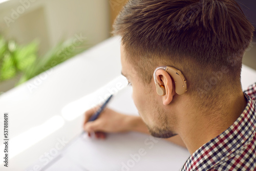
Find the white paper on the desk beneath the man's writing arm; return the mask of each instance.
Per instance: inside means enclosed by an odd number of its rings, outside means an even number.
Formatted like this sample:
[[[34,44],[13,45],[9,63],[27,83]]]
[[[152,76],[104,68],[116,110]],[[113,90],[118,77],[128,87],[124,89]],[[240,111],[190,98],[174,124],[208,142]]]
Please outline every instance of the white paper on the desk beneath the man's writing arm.
[[[137,115],[131,95],[132,88],[127,87],[114,96],[108,106],[122,113]],[[62,154],[65,158],[46,171],[62,170],[63,166],[70,170],[83,168],[92,171],[180,170],[190,156],[178,145],[134,132],[108,134],[105,140],[83,134]]]

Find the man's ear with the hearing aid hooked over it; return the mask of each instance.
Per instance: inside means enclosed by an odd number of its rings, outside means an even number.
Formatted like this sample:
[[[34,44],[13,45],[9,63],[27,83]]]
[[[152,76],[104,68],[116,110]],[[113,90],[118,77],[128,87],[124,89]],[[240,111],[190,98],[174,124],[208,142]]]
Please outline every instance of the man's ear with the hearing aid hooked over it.
[[[163,105],[168,105],[173,100],[175,92],[175,83],[173,78],[164,70],[156,71],[157,82],[164,86],[165,95],[162,96]]]

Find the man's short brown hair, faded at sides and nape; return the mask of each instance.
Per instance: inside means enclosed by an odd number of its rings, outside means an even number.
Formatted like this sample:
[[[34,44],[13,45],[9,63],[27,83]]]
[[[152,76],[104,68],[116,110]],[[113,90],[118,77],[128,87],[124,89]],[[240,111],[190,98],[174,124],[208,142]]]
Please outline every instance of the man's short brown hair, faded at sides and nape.
[[[163,65],[181,70],[187,93],[201,100],[224,85],[241,90],[242,57],[254,28],[234,0],[131,0],[113,27],[145,84]]]

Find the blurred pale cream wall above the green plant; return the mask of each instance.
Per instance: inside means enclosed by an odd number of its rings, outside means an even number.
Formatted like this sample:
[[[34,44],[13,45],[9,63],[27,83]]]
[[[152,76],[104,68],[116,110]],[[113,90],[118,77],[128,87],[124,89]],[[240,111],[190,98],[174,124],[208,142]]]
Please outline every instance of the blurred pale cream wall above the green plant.
[[[21,44],[38,38],[41,52],[75,34],[87,37],[91,46],[110,36],[105,0],[10,0],[0,11],[0,32]]]

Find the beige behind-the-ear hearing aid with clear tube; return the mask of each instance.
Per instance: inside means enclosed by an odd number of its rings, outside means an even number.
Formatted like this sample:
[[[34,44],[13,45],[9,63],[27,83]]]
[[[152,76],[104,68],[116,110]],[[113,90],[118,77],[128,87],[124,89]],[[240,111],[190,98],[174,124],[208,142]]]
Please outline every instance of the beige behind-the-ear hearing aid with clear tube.
[[[156,71],[159,69],[165,70],[170,76],[172,76],[172,78],[174,79],[174,82],[175,82],[175,92],[177,94],[182,95],[187,91],[187,81],[186,81],[185,77],[183,76],[183,74],[180,72],[180,70],[177,70],[174,67],[161,66],[161,67],[157,67],[153,74],[158,95],[160,95],[160,96],[165,95],[164,86],[159,85],[159,83],[157,82],[157,78],[156,78]]]

